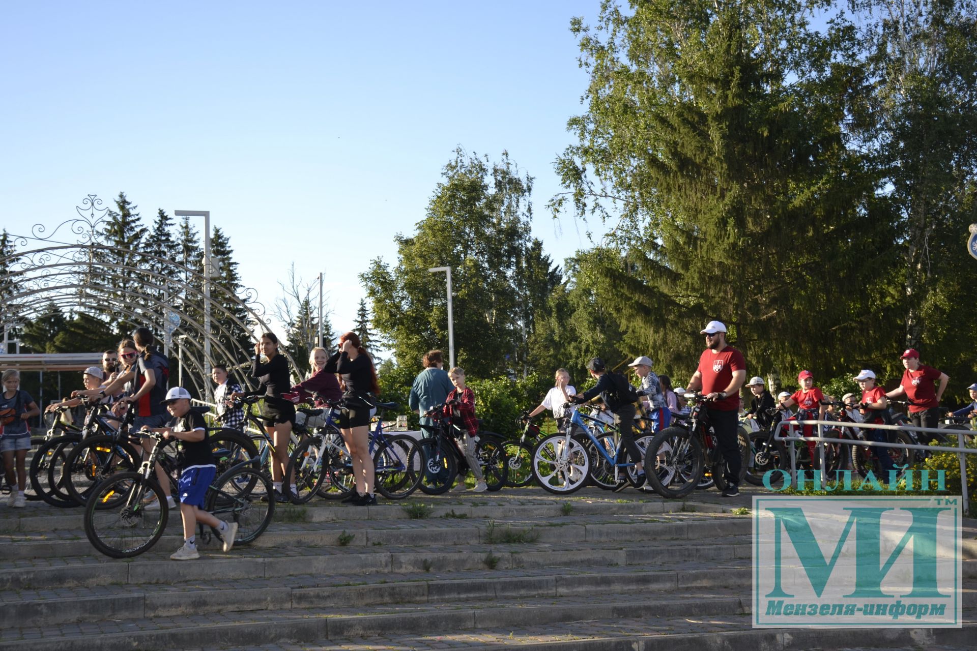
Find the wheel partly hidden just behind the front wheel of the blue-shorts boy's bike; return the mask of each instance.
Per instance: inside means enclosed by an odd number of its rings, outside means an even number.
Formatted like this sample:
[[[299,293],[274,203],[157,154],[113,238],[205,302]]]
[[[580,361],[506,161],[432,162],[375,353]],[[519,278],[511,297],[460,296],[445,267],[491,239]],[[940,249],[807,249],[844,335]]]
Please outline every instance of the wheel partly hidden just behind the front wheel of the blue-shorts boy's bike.
[[[129,443],[112,436],[89,436],[64,460],[64,490],[75,504],[83,505],[96,485],[116,472],[135,471],[140,458]]]

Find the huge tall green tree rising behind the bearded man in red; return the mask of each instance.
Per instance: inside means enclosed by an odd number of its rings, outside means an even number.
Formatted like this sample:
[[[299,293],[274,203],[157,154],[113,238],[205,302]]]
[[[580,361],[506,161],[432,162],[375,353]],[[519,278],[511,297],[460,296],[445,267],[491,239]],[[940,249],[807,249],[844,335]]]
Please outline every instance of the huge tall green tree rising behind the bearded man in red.
[[[645,354],[688,368],[718,318],[751,368],[849,367],[891,317],[872,279],[893,234],[848,146],[864,73],[847,25],[809,27],[815,7],[604,2],[595,28],[573,20],[590,84],[551,208],[611,222],[602,305]]]

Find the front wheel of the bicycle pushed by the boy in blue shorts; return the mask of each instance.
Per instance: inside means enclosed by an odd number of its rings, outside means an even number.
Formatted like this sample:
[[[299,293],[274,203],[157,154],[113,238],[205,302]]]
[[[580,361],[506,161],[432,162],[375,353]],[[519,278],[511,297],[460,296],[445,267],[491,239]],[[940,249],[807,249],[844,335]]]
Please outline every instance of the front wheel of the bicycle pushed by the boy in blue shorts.
[[[159,509],[145,509],[155,496]],[[106,556],[129,558],[151,548],[166,530],[166,496],[139,472],[120,472],[96,486],[85,505],[85,536]],[[112,503],[111,509],[106,507]]]

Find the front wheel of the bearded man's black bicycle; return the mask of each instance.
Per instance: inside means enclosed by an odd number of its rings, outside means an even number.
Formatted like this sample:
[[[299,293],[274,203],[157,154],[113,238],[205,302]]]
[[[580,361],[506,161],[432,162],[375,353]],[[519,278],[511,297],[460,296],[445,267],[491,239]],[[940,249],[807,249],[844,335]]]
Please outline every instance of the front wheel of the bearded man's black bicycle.
[[[665,427],[645,453],[648,483],[663,498],[681,498],[694,491],[704,467],[699,437],[685,427]]]

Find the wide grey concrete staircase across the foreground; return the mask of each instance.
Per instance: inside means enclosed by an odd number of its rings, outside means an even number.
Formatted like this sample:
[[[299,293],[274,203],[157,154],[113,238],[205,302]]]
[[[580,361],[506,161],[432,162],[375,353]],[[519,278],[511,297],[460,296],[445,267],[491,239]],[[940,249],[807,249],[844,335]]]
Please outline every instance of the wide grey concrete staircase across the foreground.
[[[175,512],[154,549],[120,561],[91,548],[80,509],[0,507],[0,649],[855,646],[853,631],[751,630],[751,520],[711,502],[630,489],[317,500],[278,509],[252,546],[187,562],[167,557],[182,542]],[[977,540],[965,538],[973,588]],[[975,633],[856,637],[962,649]]]

